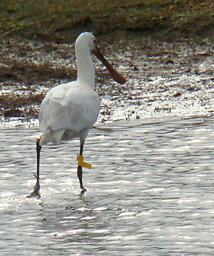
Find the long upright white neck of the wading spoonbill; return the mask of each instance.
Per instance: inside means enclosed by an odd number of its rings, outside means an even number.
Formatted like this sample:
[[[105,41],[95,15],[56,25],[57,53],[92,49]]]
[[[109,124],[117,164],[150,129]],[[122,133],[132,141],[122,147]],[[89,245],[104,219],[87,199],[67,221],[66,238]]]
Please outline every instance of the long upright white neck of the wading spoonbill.
[[[94,67],[91,53],[88,45],[81,46],[75,49],[77,57],[77,80],[94,89]]]

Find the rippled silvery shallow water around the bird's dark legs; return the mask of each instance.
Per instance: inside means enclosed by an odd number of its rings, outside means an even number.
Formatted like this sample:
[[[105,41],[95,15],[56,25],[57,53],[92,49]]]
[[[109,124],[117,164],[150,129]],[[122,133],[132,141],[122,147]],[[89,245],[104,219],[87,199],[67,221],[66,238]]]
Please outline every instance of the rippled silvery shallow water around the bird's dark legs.
[[[213,255],[214,118],[120,121],[85,143],[44,146],[37,127],[1,129],[0,255]]]

